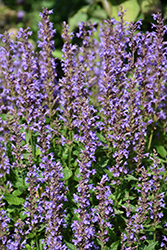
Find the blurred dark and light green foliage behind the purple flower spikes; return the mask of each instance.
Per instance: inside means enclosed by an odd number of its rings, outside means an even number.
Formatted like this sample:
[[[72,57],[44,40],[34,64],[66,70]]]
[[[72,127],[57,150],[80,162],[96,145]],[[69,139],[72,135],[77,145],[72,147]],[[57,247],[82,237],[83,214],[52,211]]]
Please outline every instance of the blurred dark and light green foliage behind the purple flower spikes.
[[[55,57],[61,59],[63,21],[68,22],[71,31],[75,31],[81,21],[92,20],[99,24],[101,20],[111,17],[118,20],[120,5],[127,10],[126,21],[143,19],[143,31],[150,30],[150,22],[153,22],[151,14],[157,11],[162,12],[164,23],[167,22],[166,0],[0,0],[0,33],[5,30],[16,33],[19,27],[29,26],[35,46],[39,12],[42,7],[54,9],[51,22],[57,30]]]

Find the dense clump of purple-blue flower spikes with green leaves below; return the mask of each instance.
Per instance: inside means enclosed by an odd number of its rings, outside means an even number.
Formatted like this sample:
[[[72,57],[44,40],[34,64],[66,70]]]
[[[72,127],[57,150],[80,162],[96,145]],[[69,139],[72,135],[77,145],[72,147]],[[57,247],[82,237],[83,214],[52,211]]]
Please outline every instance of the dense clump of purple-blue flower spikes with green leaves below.
[[[57,80],[51,13],[38,52],[28,28],[1,35],[1,249],[166,249],[161,14],[144,34],[121,10],[98,40],[94,24],[74,35],[64,22]]]

